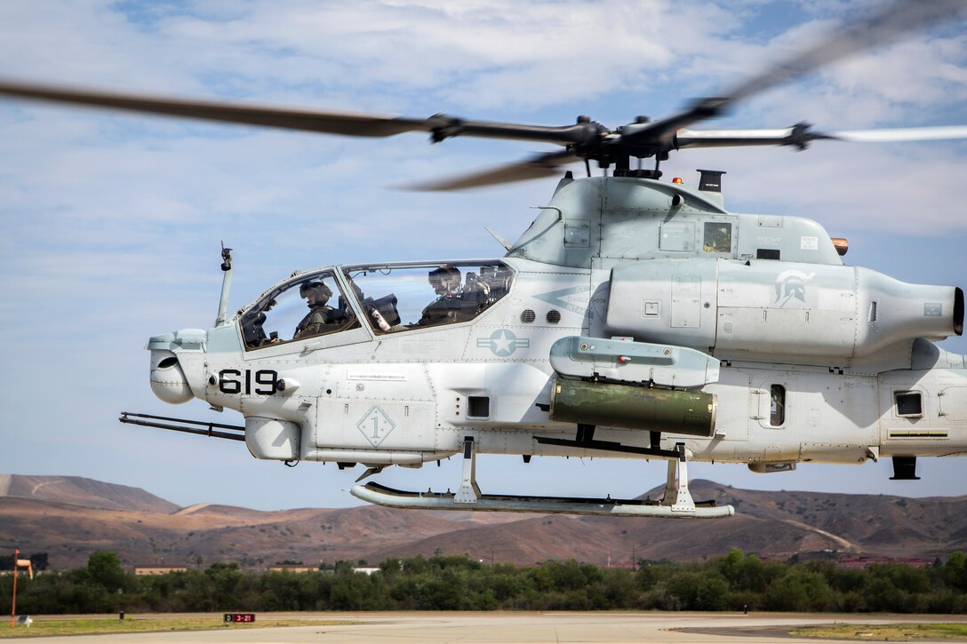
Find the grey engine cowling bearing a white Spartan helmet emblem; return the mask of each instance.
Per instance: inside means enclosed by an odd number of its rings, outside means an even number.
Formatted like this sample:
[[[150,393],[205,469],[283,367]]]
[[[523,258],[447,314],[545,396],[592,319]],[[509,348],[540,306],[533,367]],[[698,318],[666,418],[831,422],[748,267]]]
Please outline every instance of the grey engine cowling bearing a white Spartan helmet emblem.
[[[666,259],[611,272],[604,332],[794,364],[963,332],[963,291],[859,267]]]

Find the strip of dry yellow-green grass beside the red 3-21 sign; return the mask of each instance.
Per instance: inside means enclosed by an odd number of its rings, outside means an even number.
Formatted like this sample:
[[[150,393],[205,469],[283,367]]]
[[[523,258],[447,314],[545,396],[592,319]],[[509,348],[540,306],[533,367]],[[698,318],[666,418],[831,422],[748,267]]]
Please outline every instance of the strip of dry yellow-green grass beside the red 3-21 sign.
[[[265,619],[252,624],[225,624],[221,616],[184,617],[171,619],[140,618],[129,616],[125,620],[114,619],[42,619],[30,627],[20,624],[11,627],[10,619],[0,622],[0,638],[31,637],[38,635],[77,635],[112,632],[146,632],[150,630],[216,630],[216,629],[266,629],[292,626],[346,626],[355,624],[346,620],[300,620]]]

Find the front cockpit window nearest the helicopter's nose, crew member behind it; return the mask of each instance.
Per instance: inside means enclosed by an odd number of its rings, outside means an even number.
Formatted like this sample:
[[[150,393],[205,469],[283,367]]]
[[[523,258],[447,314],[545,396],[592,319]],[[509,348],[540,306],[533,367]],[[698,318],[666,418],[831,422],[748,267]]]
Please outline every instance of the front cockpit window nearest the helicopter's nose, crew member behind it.
[[[361,325],[332,271],[307,273],[273,289],[241,319],[249,349],[326,336]]]

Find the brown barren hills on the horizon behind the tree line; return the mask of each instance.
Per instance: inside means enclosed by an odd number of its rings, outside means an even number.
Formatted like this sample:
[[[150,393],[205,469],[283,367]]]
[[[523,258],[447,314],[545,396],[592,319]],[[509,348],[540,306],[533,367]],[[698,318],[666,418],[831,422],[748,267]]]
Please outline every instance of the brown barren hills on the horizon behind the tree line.
[[[967,497],[765,492],[689,483],[696,499],[735,506],[715,520],[612,518],[506,512],[428,512],[365,506],[260,512],[187,508],[144,490],[78,477],[0,475],[0,551],[47,552],[56,569],[83,566],[95,550],[129,564],[207,566],[234,561],[377,564],[387,557],[466,554],[529,565],[548,559],[628,565],[632,559],[698,560],[731,548],[770,559],[792,555],[946,557],[967,551]],[[652,498],[660,489],[651,490]]]

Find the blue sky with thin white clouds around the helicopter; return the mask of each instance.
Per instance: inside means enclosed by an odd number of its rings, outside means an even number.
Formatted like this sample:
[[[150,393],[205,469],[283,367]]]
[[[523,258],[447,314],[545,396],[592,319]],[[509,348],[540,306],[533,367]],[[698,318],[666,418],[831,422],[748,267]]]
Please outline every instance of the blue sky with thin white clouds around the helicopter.
[[[0,5],[0,75],[193,97],[424,117],[605,125],[714,95],[874,2],[102,2]],[[819,130],[967,123],[961,18],[757,96],[710,127]],[[540,145],[420,134],[382,140],[215,126],[0,102],[0,472],[85,476],[175,503],[259,509],[353,505],[358,473],[252,459],[240,444],[117,423],[122,410],[235,423],[147,382],[147,337],[208,327],[223,240],[232,308],[333,263],[485,257],[546,203],[554,181],[487,190],[392,190],[515,161]],[[666,176],[717,167],[735,212],[798,215],[850,239],[850,263],[963,286],[967,143],[816,143],[685,151]],[[577,169],[577,168],[575,168]],[[946,348],[967,353],[963,339]],[[889,463],[694,477],[764,489],[967,494],[960,459],[923,481]],[[484,491],[634,495],[660,463],[485,457]],[[400,487],[453,486],[458,463],[387,472]]]

